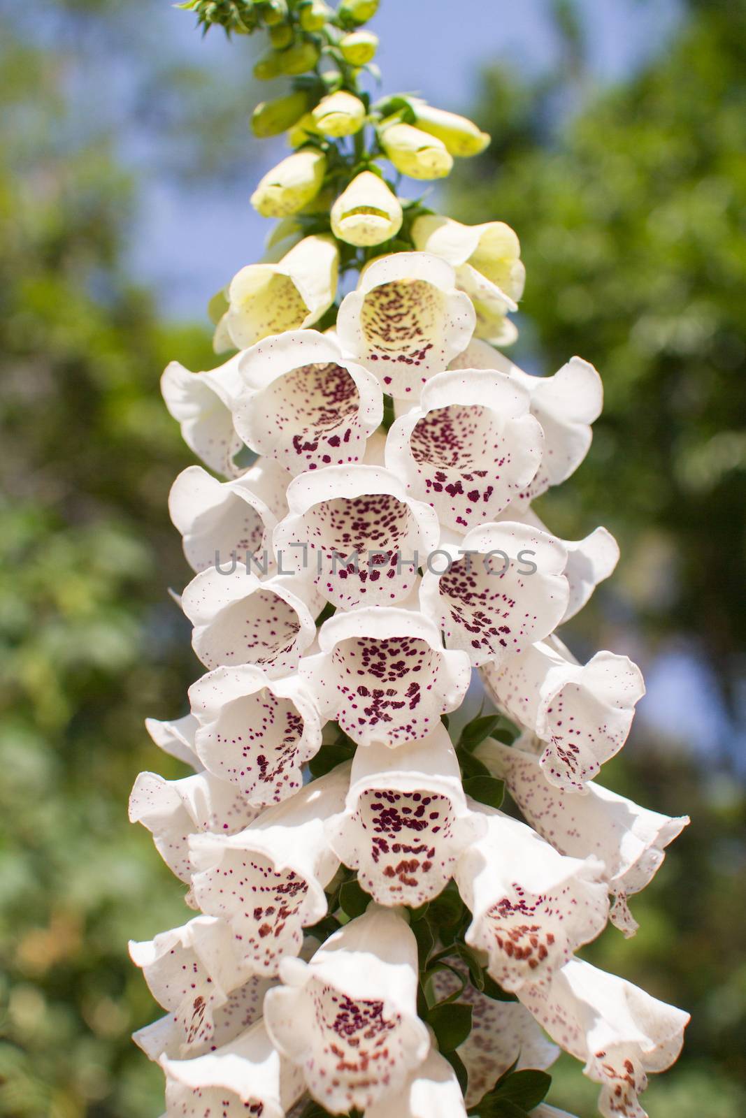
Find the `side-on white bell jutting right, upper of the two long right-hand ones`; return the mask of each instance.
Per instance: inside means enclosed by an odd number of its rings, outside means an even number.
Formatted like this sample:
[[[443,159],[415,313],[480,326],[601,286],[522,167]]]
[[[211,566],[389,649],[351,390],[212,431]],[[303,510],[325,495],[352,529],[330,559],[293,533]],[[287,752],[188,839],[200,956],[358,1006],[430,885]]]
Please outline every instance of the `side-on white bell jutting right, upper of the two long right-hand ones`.
[[[504,779],[528,823],[560,854],[595,854],[604,865],[608,889],[616,897],[610,919],[631,936],[638,928],[626,897],[640,892],[660,869],[664,847],[689,823],[640,807],[593,780],[585,795],[549,784],[539,758],[488,740],[476,750],[488,768]]]

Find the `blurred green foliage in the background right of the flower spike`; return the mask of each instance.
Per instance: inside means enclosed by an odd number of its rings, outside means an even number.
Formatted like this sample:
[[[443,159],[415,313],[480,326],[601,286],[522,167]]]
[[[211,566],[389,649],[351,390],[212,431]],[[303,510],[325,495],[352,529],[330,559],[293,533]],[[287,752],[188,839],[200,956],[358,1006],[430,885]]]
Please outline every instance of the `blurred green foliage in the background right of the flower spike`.
[[[485,75],[471,115],[493,144],[454,174],[448,211],[520,234],[516,360],[553,371],[579,353],[604,380],[588,458],[541,503],[560,534],[579,538],[603,519],[622,548],[576,645],[597,647],[599,626],[604,644],[629,644],[631,620],[648,656],[676,639],[709,665],[733,719],[719,775],[706,756],[700,769],[662,750],[640,724],[604,767],[604,783],[693,822],[632,900],[636,937],[607,929],[584,956],[692,1013],[676,1070],[652,1077],[650,1114],[740,1118],[746,804],[727,770],[736,732],[744,739],[746,652],[746,3],[689,4],[660,56],[602,91],[591,87],[577,10],[554,7],[561,69],[535,83],[509,65]],[[595,1089],[566,1059],[550,1099],[596,1112]]]

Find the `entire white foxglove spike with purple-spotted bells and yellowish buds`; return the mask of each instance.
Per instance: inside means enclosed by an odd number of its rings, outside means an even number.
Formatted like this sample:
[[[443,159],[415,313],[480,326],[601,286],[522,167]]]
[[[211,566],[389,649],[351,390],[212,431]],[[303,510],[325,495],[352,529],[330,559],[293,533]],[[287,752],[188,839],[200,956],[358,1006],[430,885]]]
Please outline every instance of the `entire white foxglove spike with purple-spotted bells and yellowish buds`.
[[[325,6],[252,8],[309,29]],[[483,138],[400,101],[366,159],[343,148],[370,120],[357,88],[257,112],[265,134],[309,113],[317,139],[255,192],[280,218],[270,257],[213,301],[235,352],[163,375],[208,467],[169,501],[205,672],[188,713],[148,723],[191,774],[141,774],[130,814],[199,915],[132,944],[166,1011],[135,1040],[169,1118],[563,1118],[559,1048],[605,1118],[645,1118],[688,1015],[576,953],[607,920],[634,934],[627,897],[687,819],[596,780],[642,676],[612,652],[579,664],[557,629],[618,552],[532,508],[585,457],[601,379],[495,348],[523,286],[513,230],[408,207],[374,169]],[[470,688],[492,713],[460,718]]]

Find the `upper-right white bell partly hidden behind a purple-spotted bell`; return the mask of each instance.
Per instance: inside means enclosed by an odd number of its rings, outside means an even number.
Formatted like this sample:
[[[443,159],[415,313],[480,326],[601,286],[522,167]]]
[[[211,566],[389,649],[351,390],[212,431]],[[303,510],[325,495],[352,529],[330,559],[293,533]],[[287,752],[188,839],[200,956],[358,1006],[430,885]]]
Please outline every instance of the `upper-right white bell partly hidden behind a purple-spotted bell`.
[[[451,367],[498,369],[528,389],[531,415],[541,424],[545,443],[541,465],[521,494],[523,505],[575,473],[588,453],[591,424],[604,402],[601,377],[588,361],[574,357],[551,377],[531,377],[487,342],[472,341]]]

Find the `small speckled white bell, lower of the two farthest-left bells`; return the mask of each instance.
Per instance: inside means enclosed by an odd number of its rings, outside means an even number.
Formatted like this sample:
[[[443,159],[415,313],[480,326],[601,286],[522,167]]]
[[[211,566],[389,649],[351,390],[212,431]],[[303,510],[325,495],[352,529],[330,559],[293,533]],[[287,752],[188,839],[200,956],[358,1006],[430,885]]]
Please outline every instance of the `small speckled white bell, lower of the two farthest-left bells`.
[[[195,917],[151,940],[131,940],[130,956],[142,968],[155,1001],[169,1011],[170,1045],[178,1038],[179,1054],[195,1055],[214,1043],[215,1016],[233,992],[240,989],[242,1001],[255,1002],[252,972],[238,958],[228,926],[213,917]],[[245,1008],[251,1012],[248,1005]]]

